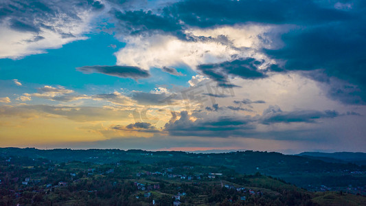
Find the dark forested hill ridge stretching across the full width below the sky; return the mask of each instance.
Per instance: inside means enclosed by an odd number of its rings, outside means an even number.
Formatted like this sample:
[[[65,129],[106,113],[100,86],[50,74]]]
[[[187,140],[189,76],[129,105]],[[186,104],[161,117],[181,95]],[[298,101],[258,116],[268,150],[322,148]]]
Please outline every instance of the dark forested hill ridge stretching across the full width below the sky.
[[[366,165],[328,162],[313,157],[283,155],[279,152],[151,152],[144,150],[38,150],[35,148],[0,148],[0,155],[21,156],[32,159],[45,158],[56,162],[84,161],[90,163],[116,163],[118,161],[139,161],[140,163],[189,162],[203,165],[225,166],[240,174],[260,172],[275,176],[307,190],[347,190],[349,185],[360,187],[351,190],[354,194],[366,194]],[[325,158],[325,157],[324,157]]]

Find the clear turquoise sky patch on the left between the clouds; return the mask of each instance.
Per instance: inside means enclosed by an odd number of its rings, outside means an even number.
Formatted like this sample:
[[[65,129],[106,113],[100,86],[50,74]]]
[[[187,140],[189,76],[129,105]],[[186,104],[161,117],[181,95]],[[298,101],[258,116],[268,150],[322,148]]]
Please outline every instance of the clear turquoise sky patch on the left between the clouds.
[[[115,45],[115,48],[111,45]],[[48,49],[46,54],[25,56],[19,60],[3,58],[0,60],[1,80],[19,78],[25,84],[30,85],[47,85],[52,82],[52,84],[72,87],[82,92],[87,92],[85,86],[88,84],[150,91],[157,84],[154,80],[137,82],[129,78],[121,79],[101,74],[84,75],[76,70],[77,67],[85,65],[115,65],[116,58],[113,53],[123,48],[124,45],[111,34],[89,34],[86,40],[63,45],[60,49]],[[194,74],[194,71],[190,71],[190,69],[185,69],[183,72],[190,76]],[[161,72],[160,69],[152,69],[151,73],[163,78],[162,84],[174,81],[174,84],[187,86],[187,81],[190,80],[190,77],[175,78],[175,76]]]

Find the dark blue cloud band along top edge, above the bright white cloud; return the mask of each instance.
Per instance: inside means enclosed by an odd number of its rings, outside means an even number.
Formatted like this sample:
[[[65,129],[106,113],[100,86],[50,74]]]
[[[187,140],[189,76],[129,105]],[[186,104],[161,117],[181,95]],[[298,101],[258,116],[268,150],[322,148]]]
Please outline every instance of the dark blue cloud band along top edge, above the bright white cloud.
[[[329,6],[329,5],[328,5]],[[181,1],[171,8],[188,25],[211,27],[244,22],[275,24],[323,23],[350,19],[352,14],[326,7],[317,1]]]

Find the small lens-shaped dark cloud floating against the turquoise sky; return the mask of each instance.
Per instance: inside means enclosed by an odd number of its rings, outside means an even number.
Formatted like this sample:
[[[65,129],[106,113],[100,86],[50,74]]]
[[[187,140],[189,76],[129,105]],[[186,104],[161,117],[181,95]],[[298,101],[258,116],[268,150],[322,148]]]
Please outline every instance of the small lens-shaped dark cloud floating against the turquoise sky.
[[[78,71],[84,73],[104,73],[109,76],[117,76],[120,78],[133,78],[135,80],[140,78],[148,78],[150,73],[139,67],[130,66],[84,66],[76,68]]]

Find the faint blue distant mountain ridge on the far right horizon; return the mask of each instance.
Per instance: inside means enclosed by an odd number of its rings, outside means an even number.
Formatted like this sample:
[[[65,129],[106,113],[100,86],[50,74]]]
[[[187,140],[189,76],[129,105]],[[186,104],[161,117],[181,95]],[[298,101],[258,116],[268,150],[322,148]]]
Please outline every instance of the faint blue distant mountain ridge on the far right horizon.
[[[363,152],[301,152],[298,156],[319,159],[331,163],[366,165],[366,153]]]

